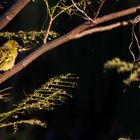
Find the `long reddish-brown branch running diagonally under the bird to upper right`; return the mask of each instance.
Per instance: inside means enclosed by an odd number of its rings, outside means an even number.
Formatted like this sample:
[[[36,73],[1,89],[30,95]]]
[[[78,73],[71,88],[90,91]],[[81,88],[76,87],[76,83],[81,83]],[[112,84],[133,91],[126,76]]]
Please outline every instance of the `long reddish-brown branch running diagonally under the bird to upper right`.
[[[88,22],[85,22],[84,24],[79,25],[78,27],[76,27],[72,31],[68,32],[67,34],[42,45],[40,48],[38,48],[33,53],[31,53],[26,58],[24,58],[22,61],[20,61],[18,64],[16,64],[11,70],[0,75],[0,83],[4,82],[8,78],[10,78],[14,74],[16,74],[17,72],[19,72],[20,70],[25,68],[27,65],[29,65],[32,61],[34,61],[36,58],[38,58],[43,53],[63,44],[65,42],[68,42],[73,39],[77,39],[78,34],[85,32],[86,30],[89,30],[89,28],[94,27],[95,25],[104,23],[109,20],[113,20],[113,19],[116,19],[119,17],[133,14],[133,13],[137,12],[137,10],[140,10],[140,6],[133,7],[133,8],[123,10],[120,12],[112,13],[112,14],[97,18],[94,20],[94,22],[88,21]],[[85,34],[85,35],[87,35],[87,34]]]

